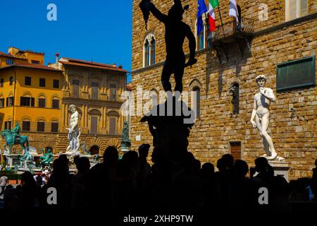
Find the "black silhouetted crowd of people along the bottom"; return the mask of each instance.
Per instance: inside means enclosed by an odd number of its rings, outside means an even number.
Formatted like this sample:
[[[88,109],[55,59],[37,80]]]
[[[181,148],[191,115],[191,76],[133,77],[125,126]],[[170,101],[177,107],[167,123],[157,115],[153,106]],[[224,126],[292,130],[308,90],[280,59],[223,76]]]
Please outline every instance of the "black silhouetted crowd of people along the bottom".
[[[139,146],[119,160],[118,150],[106,148],[104,161],[90,168],[87,157],[75,157],[76,174],[70,174],[66,155],[53,163],[46,183],[25,172],[21,185],[8,185],[4,191],[4,208],[48,210],[108,210],[111,213],[215,213],[253,210],[290,212],[316,210],[317,172],[313,177],[288,183],[274,176],[265,157],[255,160],[249,169],[244,160],[226,154],[217,162],[201,162],[190,152],[180,162],[154,150],[152,166],[147,162],[150,146]],[[317,164],[317,161],[316,161]],[[215,172],[216,171],[216,172]],[[47,202],[49,188],[57,191],[57,203]],[[259,189],[268,190],[268,203],[259,203]],[[315,194],[315,200],[313,200]],[[311,205],[309,205],[311,204]],[[313,206],[314,205],[314,206]]]

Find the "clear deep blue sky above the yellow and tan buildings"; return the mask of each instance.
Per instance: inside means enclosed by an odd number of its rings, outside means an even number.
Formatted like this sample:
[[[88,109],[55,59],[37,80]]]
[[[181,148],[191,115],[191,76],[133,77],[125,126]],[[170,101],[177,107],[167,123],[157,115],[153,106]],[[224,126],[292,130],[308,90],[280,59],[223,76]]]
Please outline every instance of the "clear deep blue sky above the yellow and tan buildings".
[[[49,21],[49,4],[57,21]],[[0,51],[8,46],[61,57],[123,65],[131,71],[132,1],[0,0]]]

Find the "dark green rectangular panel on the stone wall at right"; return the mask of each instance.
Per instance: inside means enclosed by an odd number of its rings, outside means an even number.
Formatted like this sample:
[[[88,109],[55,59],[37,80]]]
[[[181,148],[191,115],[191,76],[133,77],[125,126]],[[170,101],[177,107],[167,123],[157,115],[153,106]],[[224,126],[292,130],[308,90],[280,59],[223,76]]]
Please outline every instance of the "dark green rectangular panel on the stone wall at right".
[[[316,85],[316,57],[305,57],[278,64],[276,90],[291,90]]]

